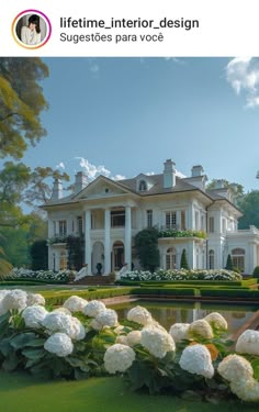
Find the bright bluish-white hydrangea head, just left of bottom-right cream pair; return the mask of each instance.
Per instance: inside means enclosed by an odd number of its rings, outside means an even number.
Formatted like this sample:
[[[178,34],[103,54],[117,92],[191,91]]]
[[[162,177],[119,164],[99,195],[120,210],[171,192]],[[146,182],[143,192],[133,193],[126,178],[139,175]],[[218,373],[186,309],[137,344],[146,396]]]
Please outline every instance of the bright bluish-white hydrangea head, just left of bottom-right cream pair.
[[[214,375],[211,354],[204,345],[187,346],[182,350],[179,365],[183,370],[204,376],[205,378],[211,379]]]

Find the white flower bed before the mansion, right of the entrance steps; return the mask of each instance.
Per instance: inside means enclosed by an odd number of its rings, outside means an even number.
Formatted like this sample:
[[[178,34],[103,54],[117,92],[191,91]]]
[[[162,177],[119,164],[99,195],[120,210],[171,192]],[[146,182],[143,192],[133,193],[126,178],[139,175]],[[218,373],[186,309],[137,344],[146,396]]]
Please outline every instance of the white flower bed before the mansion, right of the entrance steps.
[[[241,275],[226,269],[218,269],[218,270],[206,270],[206,269],[198,269],[198,270],[187,270],[187,269],[179,269],[179,270],[164,270],[159,269],[154,274],[148,270],[133,270],[126,271],[121,276],[122,280],[138,280],[138,281],[150,281],[150,280],[227,280],[227,281],[236,281],[241,280]]]

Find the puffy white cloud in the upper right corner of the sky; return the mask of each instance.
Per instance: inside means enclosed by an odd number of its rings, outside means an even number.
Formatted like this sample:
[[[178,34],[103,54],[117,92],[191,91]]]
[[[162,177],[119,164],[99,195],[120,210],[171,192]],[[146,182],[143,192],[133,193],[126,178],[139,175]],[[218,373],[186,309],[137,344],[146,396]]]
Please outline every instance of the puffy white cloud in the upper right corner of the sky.
[[[246,94],[246,107],[259,105],[259,62],[251,57],[233,58],[226,66],[226,79],[237,94]]]

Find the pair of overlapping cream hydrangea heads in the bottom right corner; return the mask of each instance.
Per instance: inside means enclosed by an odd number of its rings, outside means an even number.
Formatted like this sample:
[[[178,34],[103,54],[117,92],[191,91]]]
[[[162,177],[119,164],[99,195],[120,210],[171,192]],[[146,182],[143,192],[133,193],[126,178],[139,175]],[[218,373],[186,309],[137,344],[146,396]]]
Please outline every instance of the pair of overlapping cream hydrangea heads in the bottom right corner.
[[[228,355],[217,368],[218,374],[230,383],[232,392],[248,402],[259,401],[259,382],[254,378],[250,363],[239,355]]]

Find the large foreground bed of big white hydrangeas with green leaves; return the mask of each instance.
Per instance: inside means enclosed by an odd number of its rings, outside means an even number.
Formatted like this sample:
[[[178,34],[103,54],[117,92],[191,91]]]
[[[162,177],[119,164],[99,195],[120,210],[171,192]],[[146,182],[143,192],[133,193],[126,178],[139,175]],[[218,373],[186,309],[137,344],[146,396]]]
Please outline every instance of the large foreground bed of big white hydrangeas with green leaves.
[[[166,331],[142,307],[119,324],[98,300],[72,296],[50,311],[41,294],[0,291],[0,363],[8,371],[49,379],[119,374],[133,390],[258,402],[259,332],[244,332],[235,350],[226,336],[216,312]]]

